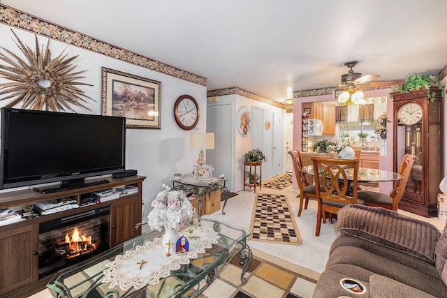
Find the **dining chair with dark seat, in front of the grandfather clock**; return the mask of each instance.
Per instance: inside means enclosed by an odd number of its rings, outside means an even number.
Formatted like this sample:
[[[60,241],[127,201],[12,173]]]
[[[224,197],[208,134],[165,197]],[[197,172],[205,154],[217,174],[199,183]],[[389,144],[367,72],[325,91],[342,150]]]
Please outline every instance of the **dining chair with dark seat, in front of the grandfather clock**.
[[[399,169],[399,174],[402,175],[402,180],[396,182],[390,195],[376,193],[374,191],[358,191],[358,198],[365,200],[365,205],[367,206],[383,207],[397,211],[400,199],[402,199],[402,195],[406,188],[406,183],[410,177],[411,167],[413,167],[413,163],[418,160],[418,156],[405,154]]]

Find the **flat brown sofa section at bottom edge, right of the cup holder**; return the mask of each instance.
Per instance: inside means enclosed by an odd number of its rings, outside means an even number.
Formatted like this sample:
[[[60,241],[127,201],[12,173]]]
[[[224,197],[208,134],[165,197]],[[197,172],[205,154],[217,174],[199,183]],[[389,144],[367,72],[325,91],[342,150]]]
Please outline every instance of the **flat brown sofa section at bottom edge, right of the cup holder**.
[[[369,295],[372,298],[434,298],[426,292],[379,274],[369,277],[369,290],[371,291]]]

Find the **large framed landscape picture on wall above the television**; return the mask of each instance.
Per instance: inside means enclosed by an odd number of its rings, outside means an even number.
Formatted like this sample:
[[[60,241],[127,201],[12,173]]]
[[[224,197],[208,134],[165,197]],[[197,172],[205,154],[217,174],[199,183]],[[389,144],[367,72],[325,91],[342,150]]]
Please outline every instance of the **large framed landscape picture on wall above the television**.
[[[101,114],[126,117],[126,128],[161,129],[161,82],[102,68]]]

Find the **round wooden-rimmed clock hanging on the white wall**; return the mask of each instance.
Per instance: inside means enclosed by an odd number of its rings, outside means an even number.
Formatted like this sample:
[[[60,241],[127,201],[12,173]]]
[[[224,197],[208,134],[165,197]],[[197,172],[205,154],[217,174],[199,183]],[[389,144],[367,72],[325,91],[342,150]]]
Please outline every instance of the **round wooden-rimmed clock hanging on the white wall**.
[[[182,95],[175,100],[174,118],[177,125],[185,131],[191,131],[198,124],[200,110],[197,101],[190,95]]]

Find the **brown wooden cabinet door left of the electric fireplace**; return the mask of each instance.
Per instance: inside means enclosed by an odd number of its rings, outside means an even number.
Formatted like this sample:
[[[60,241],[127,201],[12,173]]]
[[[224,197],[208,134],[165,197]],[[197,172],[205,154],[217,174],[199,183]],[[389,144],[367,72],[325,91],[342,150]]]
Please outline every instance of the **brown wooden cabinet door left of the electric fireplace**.
[[[38,239],[34,225],[0,234],[0,296],[38,279]]]

